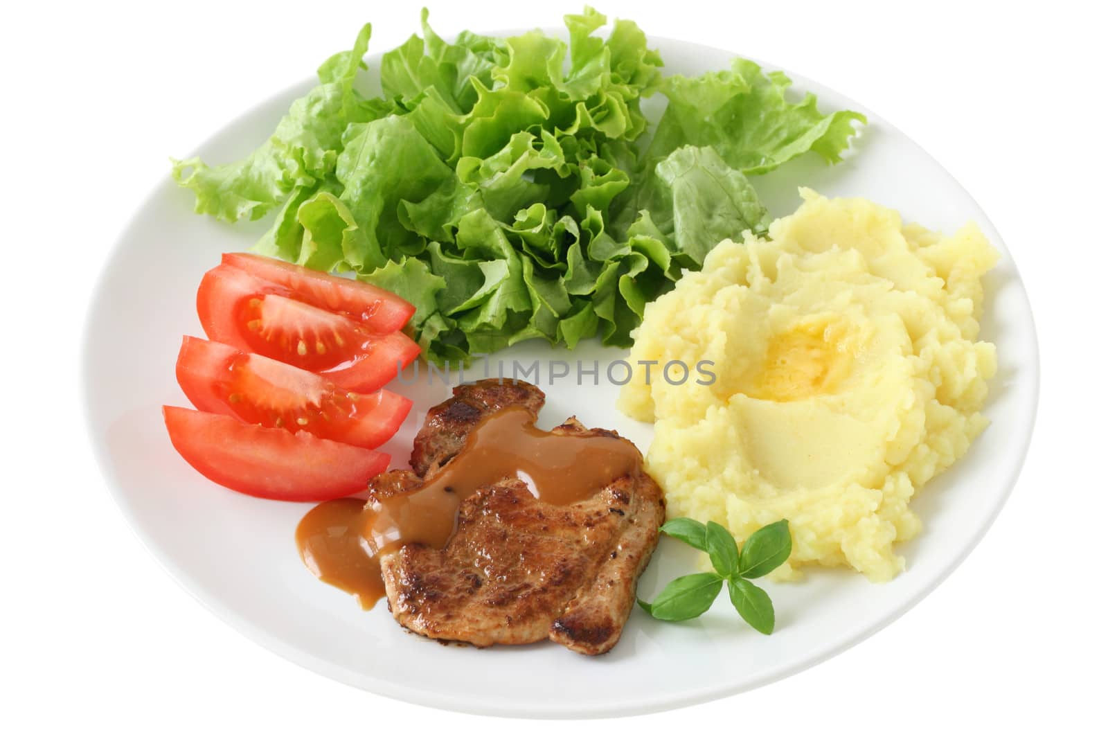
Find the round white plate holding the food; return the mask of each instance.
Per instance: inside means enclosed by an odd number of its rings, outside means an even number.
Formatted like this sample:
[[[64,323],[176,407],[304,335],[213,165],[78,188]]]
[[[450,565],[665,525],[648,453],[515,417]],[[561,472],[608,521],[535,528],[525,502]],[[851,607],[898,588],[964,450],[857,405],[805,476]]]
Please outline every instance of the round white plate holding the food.
[[[728,66],[732,52],[652,39],[667,71],[700,74]],[[379,55],[368,60],[376,71]],[[768,584],[778,629],[761,636],[742,625],[726,598],[685,624],[652,620],[637,608],[608,655],[582,657],[553,644],[445,647],[398,627],[383,604],[363,613],[353,598],[316,581],[293,535],[308,506],[223,490],[170,445],[163,403],[186,406],[174,380],[181,335],[203,336],[195,312],[201,276],[222,252],[250,246],[263,226],[226,226],[192,213],[192,194],[170,182],[142,204],[101,277],[89,317],[85,390],[93,445],[123,514],[154,556],[219,617],[289,659],[373,692],[439,708],[503,716],[589,717],[657,711],[719,698],[797,673],[856,644],[903,614],[968,554],[1015,483],[1034,422],[1038,357],[1027,296],[999,236],[973,198],[919,146],[858,103],[793,78],[823,110],[870,117],[842,164],[814,155],[756,185],[774,215],[799,205],[797,185],[832,196],[861,195],[899,208],[906,219],[951,232],[976,220],[1003,258],[987,278],[984,339],[996,342],[1001,369],[986,414],[993,423],[968,454],[913,502],[924,531],[900,547],[907,571],[872,585],[845,572],[812,574],[799,585]],[[238,158],[261,142],[305,82],[247,112],[198,151],[209,162]],[[657,112],[663,101],[650,101]],[[599,346],[575,352],[527,342],[513,358],[616,359]],[[510,367],[510,363],[509,363]],[[479,368],[480,369],[480,368]],[[495,372],[495,367],[491,368]],[[476,377],[476,374],[468,376]],[[573,378],[571,378],[573,380]],[[576,413],[587,425],[615,428],[646,449],[650,428],[614,409],[606,384],[553,384],[542,414],[547,427]],[[447,397],[439,383],[400,388],[416,409],[387,451],[406,460],[417,421]],[[687,550],[687,547],[684,547]],[[664,542],[640,589],[691,567],[683,545]]]

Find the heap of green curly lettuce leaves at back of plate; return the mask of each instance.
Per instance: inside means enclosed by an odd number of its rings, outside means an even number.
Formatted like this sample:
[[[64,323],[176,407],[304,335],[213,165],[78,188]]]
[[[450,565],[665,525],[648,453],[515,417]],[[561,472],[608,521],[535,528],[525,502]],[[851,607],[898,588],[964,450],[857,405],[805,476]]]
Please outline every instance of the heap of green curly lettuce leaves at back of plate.
[[[789,103],[789,80],[736,60],[664,76],[632,21],[565,17],[568,43],[530,31],[453,42],[421,17],[356,86],[370,27],[331,57],[245,160],[174,163],[196,211],[276,212],[256,249],[360,279],[417,307],[428,360],[468,361],[541,338],[627,346],[646,304],[725,237],[763,230],[748,175],[812,151],[835,162],[864,119]],[[640,102],[668,106],[654,135]]]

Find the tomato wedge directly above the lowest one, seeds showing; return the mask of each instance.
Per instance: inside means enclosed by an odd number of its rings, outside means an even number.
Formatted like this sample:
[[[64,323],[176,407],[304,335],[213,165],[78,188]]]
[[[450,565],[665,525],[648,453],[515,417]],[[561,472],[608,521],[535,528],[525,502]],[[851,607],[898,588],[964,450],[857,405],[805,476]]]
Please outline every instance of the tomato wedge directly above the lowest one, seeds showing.
[[[391,439],[412,407],[388,390],[351,392],[314,372],[191,336],[181,342],[177,382],[198,410],[368,449]]]

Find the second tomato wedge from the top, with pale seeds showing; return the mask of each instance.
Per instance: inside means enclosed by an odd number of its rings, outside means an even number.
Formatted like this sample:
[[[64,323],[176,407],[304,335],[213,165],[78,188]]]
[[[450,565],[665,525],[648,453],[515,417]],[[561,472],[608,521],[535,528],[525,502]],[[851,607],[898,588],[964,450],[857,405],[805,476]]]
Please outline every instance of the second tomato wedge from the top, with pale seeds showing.
[[[204,275],[196,309],[212,340],[326,372],[356,392],[377,390],[419,356],[419,345],[403,333],[376,332],[229,265]]]

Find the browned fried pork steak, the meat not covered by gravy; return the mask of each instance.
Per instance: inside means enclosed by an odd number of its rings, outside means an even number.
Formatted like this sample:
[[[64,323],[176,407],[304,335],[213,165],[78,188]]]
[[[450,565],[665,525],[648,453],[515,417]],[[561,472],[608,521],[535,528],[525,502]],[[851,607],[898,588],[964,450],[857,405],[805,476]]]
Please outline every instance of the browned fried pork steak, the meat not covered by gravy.
[[[454,388],[416,437],[413,472],[378,475],[370,494],[418,487],[485,415],[511,406],[537,414],[544,400],[525,382]],[[553,432],[616,435],[574,418]],[[613,480],[572,505],[544,503],[522,480],[507,478],[462,501],[445,548],[408,544],[381,557],[389,609],[402,626],[437,639],[489,646],[548,638],[603,654],[619,640],[664,521],[661,490],[645,472]]]

